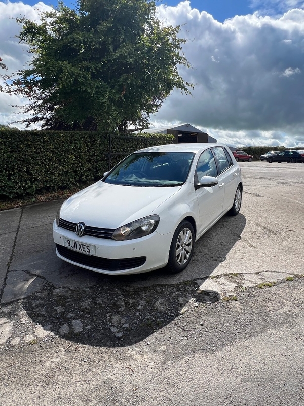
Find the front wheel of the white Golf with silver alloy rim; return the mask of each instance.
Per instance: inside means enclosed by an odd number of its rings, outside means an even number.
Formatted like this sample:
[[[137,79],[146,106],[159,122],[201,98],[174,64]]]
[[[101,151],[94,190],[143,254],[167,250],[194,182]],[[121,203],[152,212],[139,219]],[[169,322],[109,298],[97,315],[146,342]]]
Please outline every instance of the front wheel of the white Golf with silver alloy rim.
[[[192,224],[183,220],[176,228],[169,251],[168,270],[177,274],[184,270],[193,255],[195,234]]]

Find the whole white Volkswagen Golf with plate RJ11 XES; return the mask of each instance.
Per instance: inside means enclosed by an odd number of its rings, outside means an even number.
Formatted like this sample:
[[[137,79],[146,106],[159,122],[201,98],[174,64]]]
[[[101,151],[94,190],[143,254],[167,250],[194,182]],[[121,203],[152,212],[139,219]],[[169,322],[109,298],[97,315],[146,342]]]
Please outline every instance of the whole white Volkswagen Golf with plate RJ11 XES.
[[[225,213],[237,215],[243,183],[225,145],[172,144],[129,155],[68,198],[53,224],[59,258],[104,274],[190,262],[194,243]]]

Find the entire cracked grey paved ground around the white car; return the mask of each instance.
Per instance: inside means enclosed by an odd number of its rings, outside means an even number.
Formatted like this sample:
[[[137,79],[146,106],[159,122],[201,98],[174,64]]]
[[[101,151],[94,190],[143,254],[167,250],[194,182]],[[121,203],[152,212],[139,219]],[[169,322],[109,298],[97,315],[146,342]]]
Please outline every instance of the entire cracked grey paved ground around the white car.
[[[1,404],[304,404],[304,165],[240,166],[241,213],[174,276],[59,260],[59,200],[0,212]]]

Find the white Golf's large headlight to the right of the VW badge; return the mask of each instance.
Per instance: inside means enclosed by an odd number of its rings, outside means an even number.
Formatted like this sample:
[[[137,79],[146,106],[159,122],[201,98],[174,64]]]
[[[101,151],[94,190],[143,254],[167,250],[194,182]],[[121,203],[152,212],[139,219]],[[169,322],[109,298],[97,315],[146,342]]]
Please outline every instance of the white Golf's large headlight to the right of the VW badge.
[[[112,239],[123,241],[144,237],[145,235],[149,235],[156,230],[159,221],[160,218],[157,214],[132,221],[129,224],[125,224],[122,227],[117,228],[112,234]]]

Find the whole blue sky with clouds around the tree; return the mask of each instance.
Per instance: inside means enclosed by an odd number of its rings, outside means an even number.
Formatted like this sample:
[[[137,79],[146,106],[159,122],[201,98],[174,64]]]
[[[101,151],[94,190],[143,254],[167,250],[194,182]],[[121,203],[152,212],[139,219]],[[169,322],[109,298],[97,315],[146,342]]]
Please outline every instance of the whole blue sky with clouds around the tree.
[[[0,57],[11,72],[28,62],[12,17],[37,19],[51,4],[0,0]],[[189,123],[230,146],[304,146],[304,0],[167,0],[157,12],[182,25],[192,69],[180,73],[195,87],[173,91],[154,127]],[[24,101],[0,93],[0,124],[20,119],[11,105]]]

